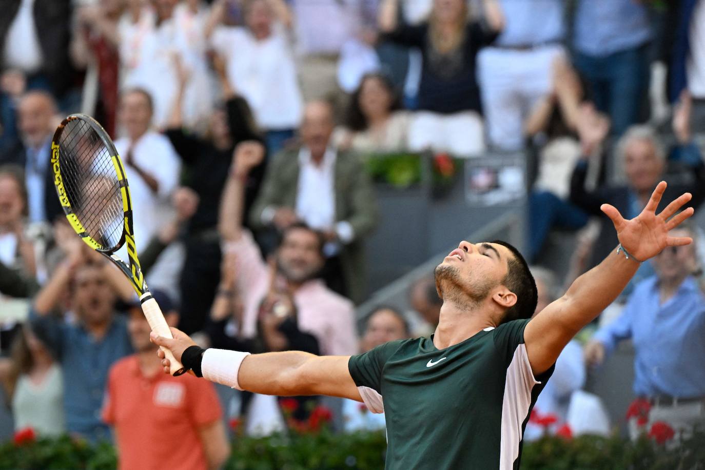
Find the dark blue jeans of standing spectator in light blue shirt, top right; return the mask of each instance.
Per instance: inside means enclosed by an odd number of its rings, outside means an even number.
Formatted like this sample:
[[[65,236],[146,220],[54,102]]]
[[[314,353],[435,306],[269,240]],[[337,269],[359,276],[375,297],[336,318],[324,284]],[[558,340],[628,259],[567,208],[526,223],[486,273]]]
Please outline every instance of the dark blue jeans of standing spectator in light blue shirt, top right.
[[[576,53],[574,60],[589,84],[587,96],[599,111],[610,116],[613,135],[622,135],[639,121],[649,89],[647,44],[604,57]]]

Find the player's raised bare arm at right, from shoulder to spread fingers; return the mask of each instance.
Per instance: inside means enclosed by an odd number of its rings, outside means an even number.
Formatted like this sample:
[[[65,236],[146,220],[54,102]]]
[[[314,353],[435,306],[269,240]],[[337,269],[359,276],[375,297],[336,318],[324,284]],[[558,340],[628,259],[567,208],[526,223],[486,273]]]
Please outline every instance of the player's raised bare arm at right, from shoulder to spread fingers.
[[[669,230],[692,216],[692,207],[674,216],[690,200],[690,194],[675,199],[657,215],[656,207],[664,190],[666,182],[662,181],[642,213],[630,221],[613,206],[603,204],[601,209],[614,223],[628,257],[625,252],[611,252],[598,266],[577,278],[563,297],[527,323],[524,340],[534,374],[548,370],[568,341],[617,298],[637,272],[637,260],[646,261],[667,246],[692,242],[690,237],[668,236]]]

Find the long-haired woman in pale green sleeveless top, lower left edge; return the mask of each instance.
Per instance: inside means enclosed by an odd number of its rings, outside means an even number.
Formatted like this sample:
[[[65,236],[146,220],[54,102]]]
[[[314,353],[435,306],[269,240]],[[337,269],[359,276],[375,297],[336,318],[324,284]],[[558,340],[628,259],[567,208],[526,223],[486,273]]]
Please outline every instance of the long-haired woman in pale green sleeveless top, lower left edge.
[[[27,326],[18,330],[10,349],[11,357],[0,359],[0,381],[11,398],[16,431],[62,434],[66,419],[59,365]]]

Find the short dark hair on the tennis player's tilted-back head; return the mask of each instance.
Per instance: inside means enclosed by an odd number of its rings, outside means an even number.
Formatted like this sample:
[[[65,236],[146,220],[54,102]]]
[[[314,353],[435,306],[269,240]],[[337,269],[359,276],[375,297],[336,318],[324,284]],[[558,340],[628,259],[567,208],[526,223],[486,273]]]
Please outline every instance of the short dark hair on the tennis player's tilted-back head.
[[[502,245],[513,254],[513,258],[507,260],[507,275],[504,276],[502,284],[515,293],[517,303],[507,309],[502,323],[512,320],[530,319],[539,302],[539,293],[537,292],[534,276],[529,270],[529,264],[513,245],[501,240],[494,240],[492,243]]]

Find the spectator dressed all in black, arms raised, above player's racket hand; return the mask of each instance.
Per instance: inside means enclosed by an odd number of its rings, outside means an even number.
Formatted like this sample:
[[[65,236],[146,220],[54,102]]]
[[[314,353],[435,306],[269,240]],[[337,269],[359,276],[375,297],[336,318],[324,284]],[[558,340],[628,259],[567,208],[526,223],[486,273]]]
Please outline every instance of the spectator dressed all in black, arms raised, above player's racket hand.
[[[216,61],[220,63],[220,61]],[[228,178],[233,149],[243,140],[257,139],[252,126],[252,113],[247,101],[236,94],[225,77],[224,67],[219,66],[224,109],[216,109],[209,118],[208,139],[183,129],[181,98],[188,87],[190,73],[181,67],[179,88],[174,99],[166,137],[185,167],[185,186],[199,200],[198,210],[192,214],[185,228],[185,265],[188,269],[180,275],[181,315],[179,328],[184,331],[200,330],[219,283],[218,266],[221,259],[218,235],[218,206],[223,187]],[[248,173],[245,182],[245,210],[255,201],[264,175],[264,163]]]

